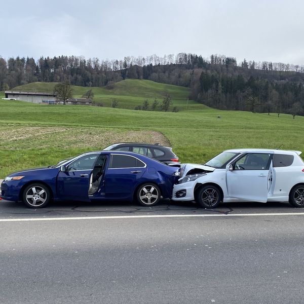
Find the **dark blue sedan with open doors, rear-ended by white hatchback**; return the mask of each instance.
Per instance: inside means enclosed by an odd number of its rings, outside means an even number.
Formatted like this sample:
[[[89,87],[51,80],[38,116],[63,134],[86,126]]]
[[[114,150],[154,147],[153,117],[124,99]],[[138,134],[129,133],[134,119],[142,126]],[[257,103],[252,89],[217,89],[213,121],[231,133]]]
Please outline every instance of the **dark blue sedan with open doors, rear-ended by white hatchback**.
[[[1,198],[43,208],[54,201],[133,201],[154,206],[171,198],[178,168],[122,151],[93,151],[56,166],[15,172],[1,184]]]

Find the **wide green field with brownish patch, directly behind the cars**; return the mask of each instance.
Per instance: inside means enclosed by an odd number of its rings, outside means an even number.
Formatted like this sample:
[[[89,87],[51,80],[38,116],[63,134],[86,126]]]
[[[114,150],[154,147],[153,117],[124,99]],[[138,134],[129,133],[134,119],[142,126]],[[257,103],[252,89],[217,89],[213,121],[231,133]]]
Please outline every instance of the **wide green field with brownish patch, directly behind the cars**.
[[[117,141],[170,144],[180,161],[203,163],[236,147],[304,150],[304,118],[206,108],[182,112],[0,100],[0,178],[55,164]],[[220,118],[218,118],[220,117]]]

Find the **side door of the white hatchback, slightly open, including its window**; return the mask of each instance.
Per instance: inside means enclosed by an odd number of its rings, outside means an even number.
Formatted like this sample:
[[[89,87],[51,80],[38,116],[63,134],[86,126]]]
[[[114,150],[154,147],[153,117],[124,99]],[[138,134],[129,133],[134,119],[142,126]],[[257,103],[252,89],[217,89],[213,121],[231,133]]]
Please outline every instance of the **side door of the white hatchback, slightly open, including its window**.
[[[269,168],[273,153],[247,153],[226,170],[230,198],[267,202]]]

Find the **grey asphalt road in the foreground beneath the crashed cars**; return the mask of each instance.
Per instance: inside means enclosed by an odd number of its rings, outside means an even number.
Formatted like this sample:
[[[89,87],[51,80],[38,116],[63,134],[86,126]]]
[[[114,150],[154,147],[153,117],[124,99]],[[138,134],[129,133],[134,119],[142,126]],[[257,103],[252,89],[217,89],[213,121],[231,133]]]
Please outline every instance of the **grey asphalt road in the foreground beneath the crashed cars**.
[[[303,231],[282,203],[0,201],[0,303],[303,303]]]

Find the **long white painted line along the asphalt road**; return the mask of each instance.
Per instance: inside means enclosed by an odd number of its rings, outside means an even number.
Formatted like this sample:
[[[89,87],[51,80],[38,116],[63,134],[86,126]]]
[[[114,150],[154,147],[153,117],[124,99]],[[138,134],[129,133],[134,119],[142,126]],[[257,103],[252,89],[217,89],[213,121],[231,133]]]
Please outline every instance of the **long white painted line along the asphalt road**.
[[[219,216],[282,216],[304,215],[304,212],[294,213],[235,213],[235,214],[160,214],[160,215],[115,215],[115,216],[80,216],[80,217],[39,217],[39,218],[1,218],[0,222],[7,221],[44,221],[44,220],[80,220],[80,219],[116,219],[116,218],[160,218],[160,217],[219,217]]]

